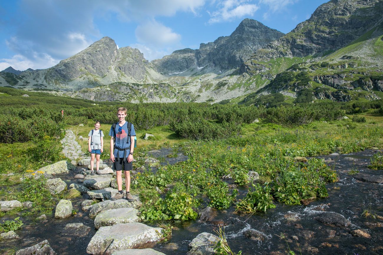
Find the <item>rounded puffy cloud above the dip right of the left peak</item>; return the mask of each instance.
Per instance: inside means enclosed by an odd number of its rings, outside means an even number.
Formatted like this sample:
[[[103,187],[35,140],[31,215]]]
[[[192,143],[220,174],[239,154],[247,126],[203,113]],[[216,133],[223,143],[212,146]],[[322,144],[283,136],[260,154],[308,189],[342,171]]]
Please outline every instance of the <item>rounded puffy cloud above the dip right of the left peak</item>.
[[[175,45],[181,39],[180,34],[155,20],[137,26],[136,37],[140,43],[156,46]]]

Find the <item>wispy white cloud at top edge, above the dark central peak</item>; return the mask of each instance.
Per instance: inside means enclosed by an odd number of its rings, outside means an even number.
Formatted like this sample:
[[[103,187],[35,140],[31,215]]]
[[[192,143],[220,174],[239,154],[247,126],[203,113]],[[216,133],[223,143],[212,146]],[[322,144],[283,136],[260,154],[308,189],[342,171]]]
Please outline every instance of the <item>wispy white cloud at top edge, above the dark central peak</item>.
[[[247,4],[246,0],[224,0],[218,3],[221,8],[218,11],[209,13],[211,18],[208,23],[218,23],[228,21],[233,18],[243,18],[245,16],[253,16],[255,11],[259,9],[258,5]]]

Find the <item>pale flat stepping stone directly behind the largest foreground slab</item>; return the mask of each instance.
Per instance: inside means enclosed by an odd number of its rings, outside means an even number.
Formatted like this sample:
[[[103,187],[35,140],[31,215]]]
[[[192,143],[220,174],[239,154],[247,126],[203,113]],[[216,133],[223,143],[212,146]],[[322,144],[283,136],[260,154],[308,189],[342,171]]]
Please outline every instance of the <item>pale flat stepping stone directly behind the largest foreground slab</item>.
[[[97,214],[95,218],[95,228],[104,226],[113,226],[117,223],[131,223],[139,222],[140,218],[137,216],[139,210],[132,207],[110,209]]]

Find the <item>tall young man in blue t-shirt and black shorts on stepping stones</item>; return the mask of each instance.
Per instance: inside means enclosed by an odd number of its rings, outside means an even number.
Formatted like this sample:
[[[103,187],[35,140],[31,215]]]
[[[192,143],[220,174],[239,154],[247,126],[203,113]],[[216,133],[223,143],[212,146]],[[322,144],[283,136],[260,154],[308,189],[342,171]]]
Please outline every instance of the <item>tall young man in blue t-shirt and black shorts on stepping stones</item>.
[[[126,184],[126,199],[129,202],[134,201],[130,194],[130,171],[132,170],[133,151],[134,151],[134,131],[133,124],[125,120],[126,108],[120,107],[117,110],[118,122],[116,127],[113,128],[113,124],[110,128],[110,160],[113,162],[113,169],[116,170],[116,179],[118,186],[118,193],[112,198],[117,200],[123,198],[122,191],[122,172],[125,174]],[[129,131],[130,129],[130,131]],[[130,136],[129,136],[130,132]]]

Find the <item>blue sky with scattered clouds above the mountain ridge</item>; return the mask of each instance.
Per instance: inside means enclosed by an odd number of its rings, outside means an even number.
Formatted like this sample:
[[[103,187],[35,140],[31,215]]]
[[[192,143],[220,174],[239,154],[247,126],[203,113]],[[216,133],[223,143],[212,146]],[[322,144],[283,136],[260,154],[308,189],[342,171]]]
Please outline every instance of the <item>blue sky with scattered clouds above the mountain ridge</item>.
[[[0,70],[49,68],[104,36],[151,61],[245,18],[288,33],[326,0],[0,0]]]

